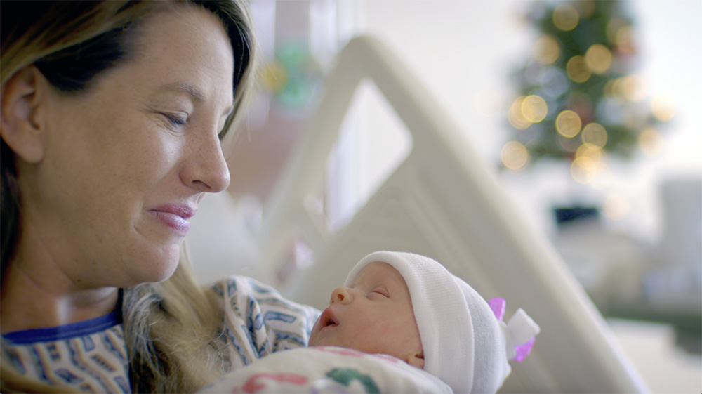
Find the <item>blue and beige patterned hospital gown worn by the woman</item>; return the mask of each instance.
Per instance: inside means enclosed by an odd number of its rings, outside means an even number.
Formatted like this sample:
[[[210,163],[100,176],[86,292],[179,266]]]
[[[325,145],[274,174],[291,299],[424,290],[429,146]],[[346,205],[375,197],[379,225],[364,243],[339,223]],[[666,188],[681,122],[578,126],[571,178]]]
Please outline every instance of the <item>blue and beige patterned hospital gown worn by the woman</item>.
[[[248,277],[213,285],[223,297],[232,370],[267,354],[307,346],[319,311]],[[93,393],[129,393],[121,308],[92,320],[2,336],[0,360],[21,374]]]

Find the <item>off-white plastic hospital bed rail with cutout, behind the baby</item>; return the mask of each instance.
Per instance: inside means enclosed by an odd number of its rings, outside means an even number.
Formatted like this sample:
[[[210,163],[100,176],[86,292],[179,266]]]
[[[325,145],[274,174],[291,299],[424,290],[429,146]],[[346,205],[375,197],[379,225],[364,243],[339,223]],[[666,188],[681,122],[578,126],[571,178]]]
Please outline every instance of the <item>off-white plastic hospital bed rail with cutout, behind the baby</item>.
[[[345,228],[328,232],[305,209],[359,83],[371,79],[404,121],[412,150]],[[602,315],[545,237],[530,228],[494,171],[465,140],[393,53],[358,37],[340,54],[312,117],[265,205],[260,250],[276,266],[294,231],[303,232],[314,265],[296,273],[287,296],[324,308],[359,258],[376,250],[431,256],[485,298],[507,300],[541,325],[534,351],[501,392],[636,393],[642,379]],[[460,327],[456,327],[460,329]]]

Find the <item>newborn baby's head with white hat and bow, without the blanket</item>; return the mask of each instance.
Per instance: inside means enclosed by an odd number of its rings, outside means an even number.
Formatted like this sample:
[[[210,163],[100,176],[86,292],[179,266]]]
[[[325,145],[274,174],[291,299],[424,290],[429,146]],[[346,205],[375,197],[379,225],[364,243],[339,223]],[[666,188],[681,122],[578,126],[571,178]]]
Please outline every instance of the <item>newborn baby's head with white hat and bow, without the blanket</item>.
[[[494,393],[522,361],[539,328],[524,310],[502,322],[504,300],[488,303],[437,261],[379,251],[334,289],[310,346],[392,355],[442,379],[456,393]]]

